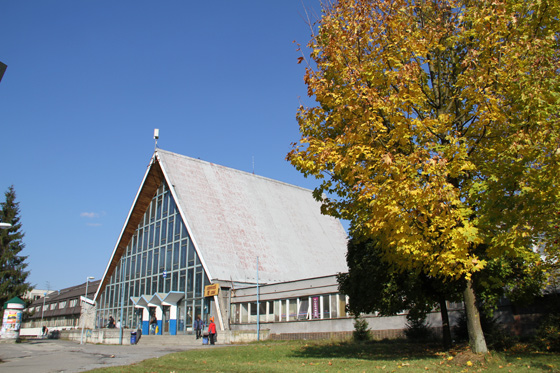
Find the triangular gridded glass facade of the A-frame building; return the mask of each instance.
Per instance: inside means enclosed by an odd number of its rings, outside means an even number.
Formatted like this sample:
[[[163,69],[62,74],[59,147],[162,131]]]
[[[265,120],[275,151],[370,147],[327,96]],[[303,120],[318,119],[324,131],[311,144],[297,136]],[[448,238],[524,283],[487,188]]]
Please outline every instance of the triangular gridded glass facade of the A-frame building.
[[[134,307],[131,297],[150,299],[155,293],[181,292],[184,297],[177,303],[176,332],[186,333],[196,315],[207,317],[205,285],[210,285],[208,277],[163,182],[99,296],[98,327],[105,327],[110,315],[120,319],[121,307],[124,326],[141,327],[142,309]],[[165,322],[169,322],[169,310],[165,306],[163,314],[163,332],[168,333]]]

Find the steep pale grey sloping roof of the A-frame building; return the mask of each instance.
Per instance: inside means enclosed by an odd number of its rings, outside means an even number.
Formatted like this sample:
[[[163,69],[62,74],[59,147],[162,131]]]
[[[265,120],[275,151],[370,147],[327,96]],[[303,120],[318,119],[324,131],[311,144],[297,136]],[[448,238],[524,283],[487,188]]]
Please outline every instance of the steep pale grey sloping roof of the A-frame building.
[[[157,149],[121,231],[103,291],[166,180],[211,281],[282,282],[347,271],[346,233],[311,191]]]

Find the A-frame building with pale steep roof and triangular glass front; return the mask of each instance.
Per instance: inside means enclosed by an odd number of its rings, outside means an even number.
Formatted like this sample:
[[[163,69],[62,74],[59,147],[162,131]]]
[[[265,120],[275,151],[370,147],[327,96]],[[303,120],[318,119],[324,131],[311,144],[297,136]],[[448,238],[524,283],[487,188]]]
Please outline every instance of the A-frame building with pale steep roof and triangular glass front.
[[[157,149],[95,295],[97,323],[148,333],[155,316],[173,335],[200,315],[223,329],[232,288],[345,272],[345,253],[342,225],[310,190]]]

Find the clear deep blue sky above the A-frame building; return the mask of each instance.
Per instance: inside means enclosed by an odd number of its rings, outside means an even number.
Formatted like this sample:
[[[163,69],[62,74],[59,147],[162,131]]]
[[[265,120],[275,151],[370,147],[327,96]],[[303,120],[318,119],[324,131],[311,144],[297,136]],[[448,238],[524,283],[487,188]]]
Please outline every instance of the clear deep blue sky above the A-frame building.
[[[1,200],[30,282],[101,278],[154,150],[312,189],[285,161],[311,103],[296,40],[318,0],[4,1]]]

